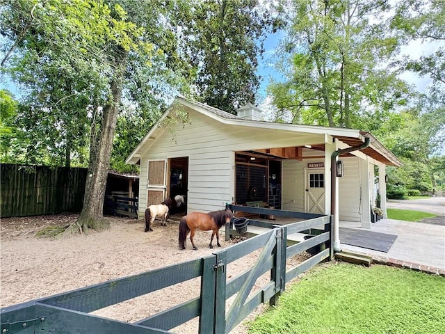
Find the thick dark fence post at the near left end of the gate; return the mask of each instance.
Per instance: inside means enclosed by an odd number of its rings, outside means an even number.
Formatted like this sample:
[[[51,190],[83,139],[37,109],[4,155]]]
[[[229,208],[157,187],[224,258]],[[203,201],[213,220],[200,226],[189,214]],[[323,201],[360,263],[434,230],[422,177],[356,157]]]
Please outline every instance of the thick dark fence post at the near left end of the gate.
[[[202,258],[201,312],[198,333],[213,333],[215,326],[216,256]]]

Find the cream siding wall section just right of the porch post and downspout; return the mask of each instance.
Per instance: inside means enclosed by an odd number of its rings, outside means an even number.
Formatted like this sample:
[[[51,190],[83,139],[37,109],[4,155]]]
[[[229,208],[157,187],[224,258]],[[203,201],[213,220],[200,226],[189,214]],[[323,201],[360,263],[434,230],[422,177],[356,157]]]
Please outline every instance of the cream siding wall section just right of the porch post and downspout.
[[[341,157],[343,177],[339,177],[339,219],[360,221],[360,168],[359,158]]]

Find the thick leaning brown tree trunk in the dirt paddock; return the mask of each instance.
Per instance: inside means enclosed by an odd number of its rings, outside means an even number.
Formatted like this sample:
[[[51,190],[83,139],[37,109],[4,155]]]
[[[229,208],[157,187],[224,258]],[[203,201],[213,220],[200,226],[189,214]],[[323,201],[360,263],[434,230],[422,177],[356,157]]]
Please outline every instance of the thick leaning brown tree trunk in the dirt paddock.
[[[115,74],[110,84],[113,99],[104,106],[102,127],[99,130],[97,140],[92,138],[91,142],[91,157],[90,165],[88,166],[83,209],[81,216],[76,222],[76,228],[78,228],[80,232],[88,232],[88,228],[95,230],[106,228],[103,214],[106,180],[108,177],[111,149],[113,148],[113,136],[122,97],[124,64],[127,58],[127,53],[123,49],[117,49],[116,54]],[[92,137],[96,137],[94,131],[95,125],[93,124]],[[95,145],[96,143],[97,145]]]

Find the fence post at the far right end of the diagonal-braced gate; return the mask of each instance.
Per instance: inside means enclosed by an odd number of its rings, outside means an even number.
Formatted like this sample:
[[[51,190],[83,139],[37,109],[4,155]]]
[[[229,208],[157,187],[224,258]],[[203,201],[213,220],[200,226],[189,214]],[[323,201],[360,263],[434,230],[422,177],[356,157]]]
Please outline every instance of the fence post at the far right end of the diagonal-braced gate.
[[[270,269],[270,279],[275,281],[275,295],[269,299],[270,306],[278,305],[279,296],[286,285],[286,244],[287,228],[282,225],[273,226],[277,232],[277,244],[274,249],[274,266]]]

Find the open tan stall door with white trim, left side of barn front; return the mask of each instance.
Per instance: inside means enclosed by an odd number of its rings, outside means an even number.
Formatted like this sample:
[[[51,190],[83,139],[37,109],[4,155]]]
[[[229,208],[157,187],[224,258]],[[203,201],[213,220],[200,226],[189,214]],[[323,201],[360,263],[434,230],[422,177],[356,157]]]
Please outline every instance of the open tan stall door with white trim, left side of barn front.
[[[167,190],[167,160],[148,161],[147,207],[165,200]]]

